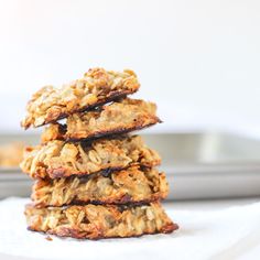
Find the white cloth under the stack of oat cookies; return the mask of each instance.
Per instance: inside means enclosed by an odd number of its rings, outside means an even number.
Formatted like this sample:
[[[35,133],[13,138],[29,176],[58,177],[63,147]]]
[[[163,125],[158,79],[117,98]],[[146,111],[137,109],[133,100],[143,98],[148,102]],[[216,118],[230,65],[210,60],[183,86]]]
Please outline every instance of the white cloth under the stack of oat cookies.
[[[215,210],[174,210],[180,225],[171,235],[98,241],[45,239],[26,230],[25,198],[0,202],[0,254],[42,259],[259,259],[260,203]]]

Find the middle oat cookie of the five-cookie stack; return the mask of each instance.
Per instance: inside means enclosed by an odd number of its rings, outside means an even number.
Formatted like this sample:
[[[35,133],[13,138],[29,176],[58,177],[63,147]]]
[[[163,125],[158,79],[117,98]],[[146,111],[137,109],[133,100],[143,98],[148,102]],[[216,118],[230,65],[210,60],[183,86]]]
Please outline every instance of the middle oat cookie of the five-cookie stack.
[[[141,137],[120,136],[93,142],[50,141],[26,148],[21,163],[31,177],[66,177],[105,170],[120,170],[133,164],[159,165],[161,159],[148,148]]]

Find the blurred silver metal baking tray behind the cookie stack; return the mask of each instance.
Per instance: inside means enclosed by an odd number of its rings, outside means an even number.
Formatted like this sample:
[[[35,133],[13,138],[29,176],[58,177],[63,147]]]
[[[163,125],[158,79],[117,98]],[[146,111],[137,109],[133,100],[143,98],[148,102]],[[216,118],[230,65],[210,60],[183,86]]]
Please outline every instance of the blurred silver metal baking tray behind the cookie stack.
[[[260,141],[220,132],[142,134],[163,159],[169,199],[225,198],[260,195]],[[1,134],[0,143],[37,136]],[[0,197],[29,196],[32,181],[19,169],[0,167]]]

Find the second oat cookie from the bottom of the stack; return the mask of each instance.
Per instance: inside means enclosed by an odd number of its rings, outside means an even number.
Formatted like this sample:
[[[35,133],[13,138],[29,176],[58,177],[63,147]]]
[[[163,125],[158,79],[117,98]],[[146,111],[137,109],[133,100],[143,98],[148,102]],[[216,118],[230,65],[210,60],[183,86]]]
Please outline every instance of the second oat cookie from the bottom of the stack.
[[[39,180],[33,186],[32,201],[36,207],[69,204],[140,204],[165,198],[169,185],[164,173],[138,166],[113,172],[107,176]]]

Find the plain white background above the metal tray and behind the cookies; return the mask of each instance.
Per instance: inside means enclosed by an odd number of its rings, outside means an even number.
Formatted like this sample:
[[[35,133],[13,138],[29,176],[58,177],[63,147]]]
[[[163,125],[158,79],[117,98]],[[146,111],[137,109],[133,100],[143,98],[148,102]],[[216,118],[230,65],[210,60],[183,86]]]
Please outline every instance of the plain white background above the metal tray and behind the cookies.
[[[132,68],[154,131],[260,136],[260,1],[0,0],[0,131],[31,94],[89,67]]]

